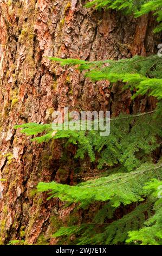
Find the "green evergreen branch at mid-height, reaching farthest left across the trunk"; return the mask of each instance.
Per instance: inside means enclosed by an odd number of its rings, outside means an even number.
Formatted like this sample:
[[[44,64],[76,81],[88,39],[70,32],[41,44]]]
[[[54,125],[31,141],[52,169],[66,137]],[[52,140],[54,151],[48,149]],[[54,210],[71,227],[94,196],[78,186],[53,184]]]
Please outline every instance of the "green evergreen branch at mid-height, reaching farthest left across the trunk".
[[[52,126],[35,123],[15,126],[23,128],[22,133],[28,136],[38,135],[45,131],[46,134],[35,137],[32,141],[38,143],[50,139],[65,138],[67,146],[70,143],[77,144],[75,158],[83,159],[86,154],[90,161],[96,160],[95,155],[100,154],[98,168],[103,166],[114,166],[118,164],[119,169],[131,172],[150,159],[151,153],[158,147],[157,136],[162,136],[161,116],[155,119],[153,113],[141,116],[120,115],[119,119],[111,120],[111,133],[107,137],[101,137],[100,131],[65,131],[58,130],[53,136]],[[132,128],[131,128],[132,126]]]

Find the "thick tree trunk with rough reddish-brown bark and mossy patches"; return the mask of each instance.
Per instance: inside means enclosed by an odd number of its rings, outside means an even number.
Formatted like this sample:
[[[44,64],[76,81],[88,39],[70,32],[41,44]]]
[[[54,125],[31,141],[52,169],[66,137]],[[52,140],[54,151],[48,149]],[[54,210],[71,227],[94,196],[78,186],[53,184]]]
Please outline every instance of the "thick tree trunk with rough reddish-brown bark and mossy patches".
[[[35,193],[36,185],[54,179],[73,184],[75,168],[83,176],[93,168],[88,160],[74,162],[73,148],[67,159],[61,157],[60,142],[31,143],[14,130],[15,124],[49,123],[51,113],[65,106],[107,109],[112,115],[154,107],[146,98],[132,103],[120,84],[110,91],[108,81],[92,83],[74,68],[50,63],[47,56],[103,60],[157,52],[151,15],[134,20],[115,11],[86,9],[83,2],[0,0],[1,244],[15,239],[56,243],[50,236],[67,222],[74,205],[64,210],[57,199],[47,202],[46,195]]]

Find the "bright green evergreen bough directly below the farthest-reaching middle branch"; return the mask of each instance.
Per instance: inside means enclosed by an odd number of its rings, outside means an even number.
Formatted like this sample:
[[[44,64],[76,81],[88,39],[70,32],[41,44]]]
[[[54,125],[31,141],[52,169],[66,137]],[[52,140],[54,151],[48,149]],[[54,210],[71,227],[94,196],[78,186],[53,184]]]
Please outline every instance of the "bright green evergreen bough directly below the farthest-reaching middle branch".
[[[128,205],[144,200],[146,191],[142,191],[146,181],[160,176],[162,163],[142,164],[131,173],[116,173],[102,178],[86,181],[76,186],[40,182],[38,191],[51,190],[51,197],[59,197],[63,201],[81,203],[85,208],[93,201],[111,201],[114,208],[121,204]],[[156,172],[155,172],[156,170]],[[158,174],[157,174],[158,173]]]

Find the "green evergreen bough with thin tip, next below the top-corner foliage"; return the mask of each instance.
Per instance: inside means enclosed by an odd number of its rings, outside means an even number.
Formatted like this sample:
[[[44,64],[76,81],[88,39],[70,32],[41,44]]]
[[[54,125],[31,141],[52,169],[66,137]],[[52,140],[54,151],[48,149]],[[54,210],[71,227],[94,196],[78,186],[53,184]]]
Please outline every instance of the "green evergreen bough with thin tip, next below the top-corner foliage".
[[[105,62],[86,62],[76,59],[50,58],[59,61],[61,65],[77,65],[77,69],[87,70],[86,77],[93,81],[109,80],[112,83],[122,81],[126,83],[124,89],[137,89],[137,93],[162,98],[162,59],[158,56],[134,56],[131,59],[106,60]]]

